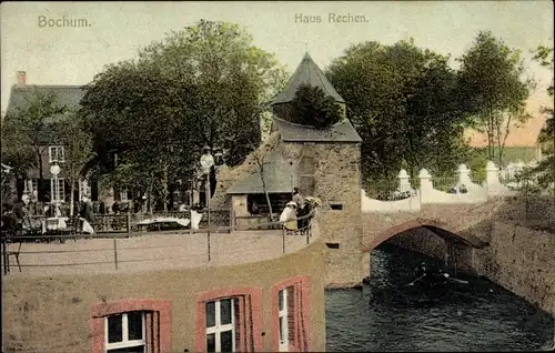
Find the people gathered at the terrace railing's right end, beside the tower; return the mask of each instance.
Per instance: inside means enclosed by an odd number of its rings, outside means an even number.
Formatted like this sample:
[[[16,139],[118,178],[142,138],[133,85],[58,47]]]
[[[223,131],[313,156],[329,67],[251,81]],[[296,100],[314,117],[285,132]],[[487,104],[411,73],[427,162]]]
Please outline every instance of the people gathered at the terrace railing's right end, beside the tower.
[[[317,202],[313,198],[305,199],[299,188],[293,189],[293,200],[287,202],[280,215],[280,222],[284,223],[285,231],[291,233],[305,232],[310,224],[310,214]]]

